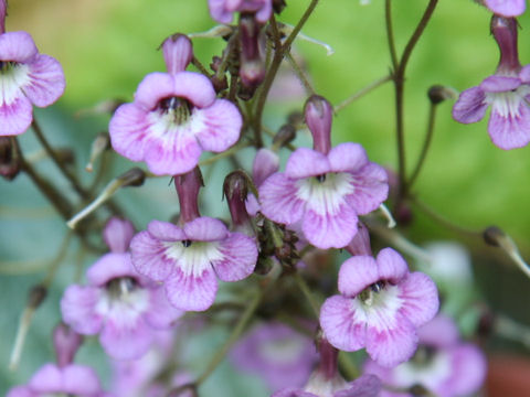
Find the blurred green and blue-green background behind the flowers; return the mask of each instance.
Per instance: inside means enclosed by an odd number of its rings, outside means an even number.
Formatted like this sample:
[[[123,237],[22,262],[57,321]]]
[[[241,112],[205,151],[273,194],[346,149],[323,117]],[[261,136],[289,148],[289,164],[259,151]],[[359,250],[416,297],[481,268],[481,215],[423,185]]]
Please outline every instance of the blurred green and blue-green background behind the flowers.
[[[279,20],[295,24],[309,1],[287,0],[287,3]],[[395,37],[401,53],[426,1],[396,0],[394,3]],[[108,118],[73,115],[108,98],[130,100],[146,74],[165,69],[157,47],[166,36],[176,32],[205,31],[214,25],[209,17],[206,0],[12,0],[9,12],[7,29],[30,32],[40,51],[57,58],[64,67],[67,82],[64,96],[52,108],[38,110],[36,117],[42,120],[53,143],[76,149],[80,172],[87,160],[93,138],[106,128]],[[406,74],[409,167],[415,163],[423,142],[428,87],[443,84],[463,90],[494,73],[498,50],[489,34],[489,20],[490,14],[473,1],[439,1]],[[530,62],[528,13],[519,22],[520,58],[526,64]],[[381,0],[372,0],[371,4],[364,7],[357,0],[322,0],[303,32],[335,49],[335,54],[327,56],[322,47],[314,44],[296,42],[295,45],[306,61],[317,93],[332,104],[340,103],[389,73],[390,57]],[[220,39],[195,39],[194,52],[203,64],[209,64],[211,56],[219,54],[222,45]],[[267,107],[265,124],[277,128],[289,111],[301,109],[301,106],[303,101],[287,105],[272,103]],[[459,125],[452,119],[451,108],[451,101],[439,106],[432,150],[415,192],[425,203],[459,225],[478,229],[490,224],[501,226],[519,244],[523,255],[530,257],[530,147],[502,151],[489,140],[487,118],[475,125]],[[372,161],[395,168],[393,87],[390,83],[337,115],[333,141],[347,140],[362,143]],[[21,144],[28,150],[35,148],[29,133],[21,138]],[[118,160],[115,174],[128,167],[130,163]],[[44,163],[43,170],[49,169],[53,175],[51,164]],[[216,182],[206,186],[206,192],[211,193],[209,196],[220,197],[219,181],[222,181],[223,174],[222,170],[214,172]],[[62,180],[59,183],[66,186]],[[178,207],[167,181],[149,181],[142,189],[121,192],[118,200],[139,228],[145,227],[152,217],[168,218]],[[211,210],[209,215],[218,215],[215,212],[220,211],[213,206]],[[39,260],[54,255],[65,226],[24,176],[11,184],[0,181],[0,223],[2,393],[14,383],[23,383],[41,363],[51,360],[49,335],[59,318],[56,301],[74,269],[62,269],[60,272],[51,299],[34,320],[38,325],[30,331],[21,368],[17,373],[9,373],[9,351],[25,292],[29,286],[42,279],[44,271],[39,268]],[[407,233],[411,239],[418,243],[456,237],[422,215],[417,215],[417,222]],[[492,253],[485,250],[479,242],[464,243],[473,245],[478,257],[480,254],[488,257]],[[68,259],[77,260],[75,248],[68,251]],[[93,259],[81,258],[78,261],[89,264]],[[480,264],[483,269],[490,266],[486,260]],[[484,272],[483,283],[490,292],[489,297],[506,290],[528,290],[528,280],[517,270],[499,270],[498,266],[491,265],[488,271]],[[499,279],[499,275],[507,281]],[[505,288],[500,288],[502,286]],[[502,298],[498,299],[502,301]],[[520,294],[502,302],[499,304],[508,309],[511,307],[512,313],[523,316],[526,304],[522,303],[528,303],[528,297]],[[512,308],[513,302],[521,305]],[[8,305],[9,310],[4,310]],[[86,361],[91,360],[86,357]],[[97,362],[97,357],[94,360]],[[222,371],[231,369],[223,367]],[[236,396],[237,389],[234,387],[227,393]]]

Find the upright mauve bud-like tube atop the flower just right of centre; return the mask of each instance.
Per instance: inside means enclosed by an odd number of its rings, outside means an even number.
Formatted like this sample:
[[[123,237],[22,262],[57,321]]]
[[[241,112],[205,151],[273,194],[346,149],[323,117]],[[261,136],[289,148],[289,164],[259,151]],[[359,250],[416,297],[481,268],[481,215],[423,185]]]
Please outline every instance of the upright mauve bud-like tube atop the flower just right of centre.
[[[331,118],[333,107],[324,97],[312,95],[304,109],[306,124],[312,135],[314,149],[327,154],[331,149]]]

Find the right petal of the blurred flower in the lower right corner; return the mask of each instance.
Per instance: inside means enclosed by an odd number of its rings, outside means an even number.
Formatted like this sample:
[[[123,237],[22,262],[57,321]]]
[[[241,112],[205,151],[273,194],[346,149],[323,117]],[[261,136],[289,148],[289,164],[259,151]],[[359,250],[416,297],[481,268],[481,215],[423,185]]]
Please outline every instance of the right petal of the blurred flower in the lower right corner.
[[[452,396],[467,396],[476,393],[483,385],[487,373],[484,353],[470,343],[459,344],[451,351],[453,376],[442,385]]]

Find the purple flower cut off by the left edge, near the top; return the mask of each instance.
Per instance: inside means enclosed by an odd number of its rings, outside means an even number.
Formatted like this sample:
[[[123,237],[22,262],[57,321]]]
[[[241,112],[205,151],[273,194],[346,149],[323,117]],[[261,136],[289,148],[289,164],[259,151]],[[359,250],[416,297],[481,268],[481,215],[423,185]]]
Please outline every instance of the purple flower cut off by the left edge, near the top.
[[[64,85],[61,64],[39,54],[29,33],[0,34],[0,136],[24,132],[33,120],[33,105],[52,105]]]

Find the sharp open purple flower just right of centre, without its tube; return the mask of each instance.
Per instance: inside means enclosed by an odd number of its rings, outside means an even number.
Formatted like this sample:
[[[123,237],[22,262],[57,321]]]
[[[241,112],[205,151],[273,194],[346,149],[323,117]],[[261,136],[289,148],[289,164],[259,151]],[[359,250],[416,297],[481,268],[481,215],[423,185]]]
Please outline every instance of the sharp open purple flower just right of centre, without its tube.
[[[306,239],[318,248],[342,248],[357,233],[358,215],[378,208],[389,186],[384,169],[368,161],[358,143],[341,143],[328,154],[297,149],[285,173],[259,186],[262,213],[274,222],[301,221]]]

